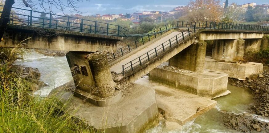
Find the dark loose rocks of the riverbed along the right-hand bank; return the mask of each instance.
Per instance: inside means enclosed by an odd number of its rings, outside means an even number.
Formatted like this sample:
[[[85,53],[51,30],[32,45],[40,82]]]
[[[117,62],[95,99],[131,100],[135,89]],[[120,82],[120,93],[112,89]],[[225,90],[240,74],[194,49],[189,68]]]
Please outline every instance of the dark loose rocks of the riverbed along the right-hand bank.
[[[263,68],[263,73],[251,75],[247,80],[229,79],[233,86],[251,90],[255,104],[248,107],[251,114],[269,118],[269,67]],[[226,127],[242,132],[261,131],[269,132],[269,122],[255,119],[250,114],[229,114],[223,118]]]

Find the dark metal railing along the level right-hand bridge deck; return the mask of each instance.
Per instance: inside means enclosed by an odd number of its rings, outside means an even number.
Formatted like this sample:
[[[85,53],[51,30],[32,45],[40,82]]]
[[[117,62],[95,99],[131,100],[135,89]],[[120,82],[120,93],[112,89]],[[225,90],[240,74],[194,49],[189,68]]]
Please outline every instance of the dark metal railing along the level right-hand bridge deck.
[[[205,29],[269,31],[269,26],[246,25],[246,24],[235,24],[235,23],[221,23],[221,22],[176,21],[177,27],[190,27],[192,25],[195,25],[196,28],[205,28]]]

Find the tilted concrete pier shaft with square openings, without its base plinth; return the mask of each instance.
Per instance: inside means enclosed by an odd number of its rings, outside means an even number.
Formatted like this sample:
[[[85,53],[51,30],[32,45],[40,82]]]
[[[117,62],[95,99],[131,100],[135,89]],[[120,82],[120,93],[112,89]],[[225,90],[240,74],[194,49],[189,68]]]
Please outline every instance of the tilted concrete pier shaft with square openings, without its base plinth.
[[[106,54],[71,51],[66,57],[76,88],[103,98],[114,93]]]

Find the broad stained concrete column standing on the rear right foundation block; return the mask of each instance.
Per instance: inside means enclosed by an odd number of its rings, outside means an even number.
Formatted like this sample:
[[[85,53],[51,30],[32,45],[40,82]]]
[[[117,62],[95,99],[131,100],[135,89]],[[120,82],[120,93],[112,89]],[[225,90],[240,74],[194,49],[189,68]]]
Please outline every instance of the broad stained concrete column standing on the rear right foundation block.
[[[245,40],[243,39],[214,40],[212,59],[227,62],[243,60],[244,48]]]

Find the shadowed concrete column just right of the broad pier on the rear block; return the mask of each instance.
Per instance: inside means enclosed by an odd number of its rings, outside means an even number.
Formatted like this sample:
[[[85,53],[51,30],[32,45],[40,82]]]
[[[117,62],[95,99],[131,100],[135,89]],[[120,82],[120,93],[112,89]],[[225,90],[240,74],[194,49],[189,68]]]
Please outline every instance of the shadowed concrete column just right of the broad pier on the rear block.
[[[262,39],[245,39],[245,51],[259,51],[261,50]]]

